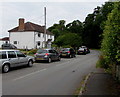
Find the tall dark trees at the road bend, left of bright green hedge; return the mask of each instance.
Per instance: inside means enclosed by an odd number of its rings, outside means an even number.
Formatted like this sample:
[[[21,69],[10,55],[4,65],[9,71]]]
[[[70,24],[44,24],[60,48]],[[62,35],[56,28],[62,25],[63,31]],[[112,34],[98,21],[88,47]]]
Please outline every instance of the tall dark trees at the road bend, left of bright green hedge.
[[[113,9],[113,2],[106,2],[102,7],[94,9],[92,14],[88,14],[84,22],[83,40],[84,44],[91,48],[100,48],[104,21]]]

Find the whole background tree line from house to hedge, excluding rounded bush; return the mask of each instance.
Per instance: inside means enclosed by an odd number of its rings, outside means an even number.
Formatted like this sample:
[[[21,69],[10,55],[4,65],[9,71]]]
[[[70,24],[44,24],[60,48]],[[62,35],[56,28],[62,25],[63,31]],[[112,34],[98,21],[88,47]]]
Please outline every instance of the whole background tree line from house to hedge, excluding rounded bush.
[[[89,48],[100,48],[105,21],[108,14],[112,11],[113,5],[113,2],[106,2],[102,7],[97,6],[93,13],[88,14],[83,23],[79,20],[74,20],[66,24],[65,20],[60,20],[58,24],[49,27],[48,30],[55,35],[54,44],[64,46],[64,39],[61,40],[61,38],[65,37],[66,33],[75,33],[80,37],[80,45],[86,45]]]

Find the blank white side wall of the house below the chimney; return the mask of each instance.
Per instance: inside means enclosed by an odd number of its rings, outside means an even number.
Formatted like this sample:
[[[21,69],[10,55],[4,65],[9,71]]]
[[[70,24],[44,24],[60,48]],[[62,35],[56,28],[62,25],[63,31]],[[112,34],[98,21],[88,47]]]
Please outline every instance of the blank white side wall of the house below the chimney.
[[[14,44],[18,49],[33,49],[35,47],[34,32],[11,32],[10,43]]]

